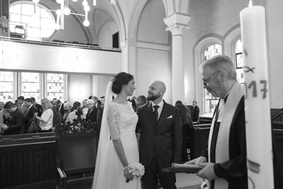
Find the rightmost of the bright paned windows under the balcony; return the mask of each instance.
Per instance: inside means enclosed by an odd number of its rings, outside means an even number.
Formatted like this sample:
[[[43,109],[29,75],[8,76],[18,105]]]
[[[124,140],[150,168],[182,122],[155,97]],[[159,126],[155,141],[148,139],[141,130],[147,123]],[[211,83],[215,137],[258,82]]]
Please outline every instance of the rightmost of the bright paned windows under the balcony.
[[[62,100],[64,98],[64,75],[48,73],[47,82],[47,98]]]

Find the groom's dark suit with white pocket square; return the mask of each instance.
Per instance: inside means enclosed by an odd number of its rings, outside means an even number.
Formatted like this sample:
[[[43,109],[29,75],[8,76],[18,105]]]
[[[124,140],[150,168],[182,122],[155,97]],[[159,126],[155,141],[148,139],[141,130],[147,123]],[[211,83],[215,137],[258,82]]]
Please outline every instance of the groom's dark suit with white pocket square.
[[[152,162],[157,162],[158,172],[160,168],[167,168],[170,167],[172,163],[179,163],[181,161],[182,126],[179,118],[179,109],[164,102],[160,118],[157,124],[155,124],[152,102],[138,107],[138,124],[136,131],[139,130],[140,163],[142,163],[145,168],[152,166]],[[170,176],[170,174],[162,177],[159,175],[160,183],[167,183],[168,180],[172,180],[171,178],[167,178],[167,176]],[[147,179],[148,178],[150,178],[150,176],[147,177]],[[157,182],[155,178],[152,178],[152,180],[150,182]],[[172,183],[170,183],[170,185],[172,185]],[[165,187],[163,186],[163,188]]]

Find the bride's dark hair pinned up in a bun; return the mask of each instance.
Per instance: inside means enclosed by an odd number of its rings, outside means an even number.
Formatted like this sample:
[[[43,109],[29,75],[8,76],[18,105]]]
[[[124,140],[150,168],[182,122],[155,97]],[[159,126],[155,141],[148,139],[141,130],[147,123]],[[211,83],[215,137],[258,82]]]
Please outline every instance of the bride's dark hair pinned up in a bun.
[[[114,75],[112,92],[118,95],[121,92],[123,85],[128,85],[128,82],[131,80],[133,80],[133,75],[126,72],[117,73]]]

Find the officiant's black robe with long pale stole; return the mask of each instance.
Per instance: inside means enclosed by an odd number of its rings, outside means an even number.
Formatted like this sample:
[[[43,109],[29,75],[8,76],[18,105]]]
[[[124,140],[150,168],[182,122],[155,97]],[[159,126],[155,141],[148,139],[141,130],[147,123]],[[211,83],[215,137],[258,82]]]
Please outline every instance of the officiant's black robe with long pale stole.
[[[248,189],[245,110],[241,87],[236,82],[228,94],[226,105],[223,109],[222,124],[216,121],[219,103],[213,114],[213,123],[211,124],[209,134],[209,147],[202,154],[209,162],[216,163],[213,168],[219,179],[211,180],[209,183],[210,189]],[[238,101],[235,99],[235,96],[238,96]],[[229,109],[233,106],[234,110],[229,112]],[[230,124],[227,124],[226,119],[229,119],[227,117],[230,117],[230,121],[228,121]],[[229,129],[223,131],[223,127],[229,127]]]

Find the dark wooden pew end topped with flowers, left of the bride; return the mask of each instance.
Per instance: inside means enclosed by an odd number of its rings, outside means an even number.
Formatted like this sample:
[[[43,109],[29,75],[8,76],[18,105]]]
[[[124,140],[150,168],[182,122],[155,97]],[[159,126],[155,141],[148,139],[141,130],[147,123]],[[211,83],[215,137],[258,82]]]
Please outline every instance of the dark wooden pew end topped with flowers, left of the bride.
[[[60,182],[57,189],[91,189],[99,142],[96,123],[81,119],[82,112],[72,124],[58,126],[57,172]]]

